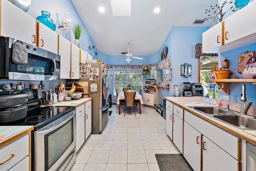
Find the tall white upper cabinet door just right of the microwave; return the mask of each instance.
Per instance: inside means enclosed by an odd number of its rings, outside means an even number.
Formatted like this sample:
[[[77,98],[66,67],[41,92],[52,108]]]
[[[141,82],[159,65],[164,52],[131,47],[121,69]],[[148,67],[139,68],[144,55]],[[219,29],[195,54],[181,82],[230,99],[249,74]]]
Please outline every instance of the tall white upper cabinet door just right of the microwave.
[[[71,43],[59,36],[59,52],[60,55],[60,78],[61,79],[70,79],[71,76]]]

